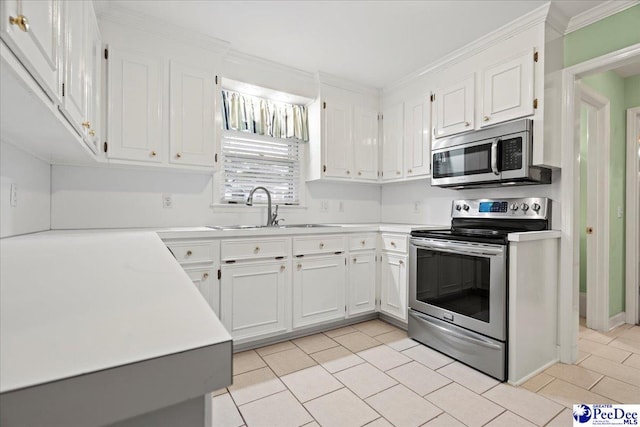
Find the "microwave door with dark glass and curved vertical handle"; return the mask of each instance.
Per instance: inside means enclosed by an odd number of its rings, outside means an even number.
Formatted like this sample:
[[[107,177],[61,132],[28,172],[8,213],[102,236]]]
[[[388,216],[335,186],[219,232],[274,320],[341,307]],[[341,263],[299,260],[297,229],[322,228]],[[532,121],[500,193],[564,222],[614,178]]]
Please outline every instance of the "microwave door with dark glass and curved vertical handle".
[[[454,186],[500,180],[500,139],[434,149],[432,154],[433,186]]]

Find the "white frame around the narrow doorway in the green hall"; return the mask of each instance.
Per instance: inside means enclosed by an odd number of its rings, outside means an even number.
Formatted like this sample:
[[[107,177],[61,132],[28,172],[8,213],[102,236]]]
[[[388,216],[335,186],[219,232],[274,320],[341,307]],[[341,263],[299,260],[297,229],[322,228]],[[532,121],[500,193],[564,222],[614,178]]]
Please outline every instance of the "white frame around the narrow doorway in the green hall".
[[[585,103],[595,109],[597,121],[595,143],[593,140],[589,141],[587,156],[587,174],[595,177],[596,180],[595,203],[593,199],[587,198],[589,200],[587,203],[587,225],[595,229],[595,235],[589,239],[587,244],[587,327],[606,332],[609,330],[609,255],[607,249],[609,247],[611,102],[607,97],[580,82],[576,82],[576,95],[580,104]],[[578,114],[577,117],[580,117],[579,109],[576,110],[576,114]],[[591,126],[589,127],[591,128]],[[577,134],[577,137],[579,140],[580,133]],[[579,175],[578,173],[578,180],[580,180]],[[587,179],[587,181],[590,180]],[[590,222],[590,219],[593,222]]]

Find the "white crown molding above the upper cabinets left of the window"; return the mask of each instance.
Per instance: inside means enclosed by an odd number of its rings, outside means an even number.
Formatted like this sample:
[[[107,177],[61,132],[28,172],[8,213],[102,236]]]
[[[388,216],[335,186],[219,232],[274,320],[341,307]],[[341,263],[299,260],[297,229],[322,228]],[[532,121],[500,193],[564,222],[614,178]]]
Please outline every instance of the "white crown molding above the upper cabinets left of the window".
[[[99,22],[110,22],[154,35],[165,36],[168,39],[211,50],[222,55],[225,55],[231,47],[228,41],[207,36],[119,6],[108,5],[106,7],[102,6],[100,9],[97,15]]]

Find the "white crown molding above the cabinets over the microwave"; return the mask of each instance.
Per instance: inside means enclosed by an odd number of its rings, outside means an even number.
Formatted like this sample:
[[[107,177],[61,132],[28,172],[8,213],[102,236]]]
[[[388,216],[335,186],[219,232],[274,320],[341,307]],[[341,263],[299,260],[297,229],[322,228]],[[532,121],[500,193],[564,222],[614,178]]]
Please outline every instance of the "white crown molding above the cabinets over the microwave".
[[[453,52],[443,56],[431,64],[414,71],[413,73],[405,76],[390,85],[385,86],[382,90],[383,92],[388,92],[391,90],[399,89],[407,84],[411,83],[413,80],[417,79],[424,74],[431,73],[438,69],[444,68],[445,66],[450,66],[452,64],[458,63],[464,59],[470,58],[474,55],[477,55],[478,52],[488,49],[493,46],[495,43],[506,40],[510,37],[513,37],[516,34],[519,34],[531,27],[534,27],[538,24],[544,23],[549,14],[550,3],[543,4],[537,9],[532,10],[531,12],[522,15],[521,17],[509,22],[506,25],[498,28],[495,31],[486,34],[475,41],[466,44],[460,49],[454,50]]]

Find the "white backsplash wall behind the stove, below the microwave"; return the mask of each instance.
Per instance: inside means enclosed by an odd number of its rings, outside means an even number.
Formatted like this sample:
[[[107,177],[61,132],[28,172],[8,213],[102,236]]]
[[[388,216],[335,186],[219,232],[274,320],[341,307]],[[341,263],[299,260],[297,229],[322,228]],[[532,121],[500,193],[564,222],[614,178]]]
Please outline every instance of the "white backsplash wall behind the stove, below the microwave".
[[[382,186],[382,222],[407,224],[445,224],[451,221],[451,202],[456,199],[549,197],[552,200],[551,226],[560,228],[560,171],[553,171],[549,185],[528,185],[509,188],[448,190],[431,187],[429,180],[400,182]],[[419,212],[414,212],[418,203]]]

